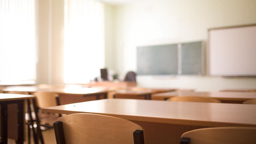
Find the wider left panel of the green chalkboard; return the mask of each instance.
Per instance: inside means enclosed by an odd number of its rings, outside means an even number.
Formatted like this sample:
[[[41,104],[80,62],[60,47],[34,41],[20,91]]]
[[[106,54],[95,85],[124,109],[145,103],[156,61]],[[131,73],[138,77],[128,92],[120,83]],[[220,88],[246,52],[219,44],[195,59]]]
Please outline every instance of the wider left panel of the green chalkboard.
[[[177,52],[177,44],[137,47],[137,74],[178,74]]]

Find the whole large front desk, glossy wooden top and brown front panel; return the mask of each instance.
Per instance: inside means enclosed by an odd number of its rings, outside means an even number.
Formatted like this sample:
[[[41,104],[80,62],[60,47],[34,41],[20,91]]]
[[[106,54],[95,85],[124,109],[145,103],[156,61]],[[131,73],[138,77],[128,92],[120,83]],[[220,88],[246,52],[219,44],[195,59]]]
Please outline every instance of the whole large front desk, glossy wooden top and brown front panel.
[[[146,144],[178,144],[189,130],[221,126],[256,127],[256,105],[104,99],[43,108],[42,112],[92,113],[131,120],[144,129]]]

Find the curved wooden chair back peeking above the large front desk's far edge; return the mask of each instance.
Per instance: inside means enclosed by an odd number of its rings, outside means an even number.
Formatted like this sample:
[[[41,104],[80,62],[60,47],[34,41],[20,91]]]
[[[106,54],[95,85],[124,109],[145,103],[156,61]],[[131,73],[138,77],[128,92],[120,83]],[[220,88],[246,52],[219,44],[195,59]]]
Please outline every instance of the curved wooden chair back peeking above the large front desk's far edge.
[[[174,102],[214,102],[220,103],[220,100],[215,98],[207,98],[202,96],[174,96],[172,98],[168,98],[168,101]]]

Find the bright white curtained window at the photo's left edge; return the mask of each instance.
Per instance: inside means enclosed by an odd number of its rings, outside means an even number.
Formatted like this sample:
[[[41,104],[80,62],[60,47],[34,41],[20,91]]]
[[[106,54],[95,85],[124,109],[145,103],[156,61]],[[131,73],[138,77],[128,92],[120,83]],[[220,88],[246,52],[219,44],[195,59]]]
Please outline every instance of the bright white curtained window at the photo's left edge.
[[[35,0],[0,0],[0,84],[35,82],[35,4]]]

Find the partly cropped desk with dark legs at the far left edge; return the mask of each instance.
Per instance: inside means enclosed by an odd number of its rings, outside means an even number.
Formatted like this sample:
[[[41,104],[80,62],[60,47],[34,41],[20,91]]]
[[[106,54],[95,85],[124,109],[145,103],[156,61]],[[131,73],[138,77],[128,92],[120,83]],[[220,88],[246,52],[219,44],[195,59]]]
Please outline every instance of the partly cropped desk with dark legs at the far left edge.
[[[17,139],[18,144],[23,144],[24,141],[24,100],[35,98],[31,95],[24,94],[0,94],[0,105],[1,105],[1,144],[7,144],[8,138],[8,105],[18,104],[17,118],[18,120],[13,120],[15,125],[18,123],[17,135],[11,134],[11,138]],[[10,115],[11,116],[11,115]],[[9,121],[10,122],[10,121]],[[11,127],[15,129],[16,126],[11,124]],[[17,137],[17,138],[16,138]]]

